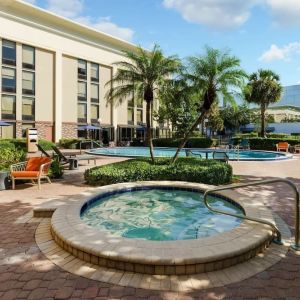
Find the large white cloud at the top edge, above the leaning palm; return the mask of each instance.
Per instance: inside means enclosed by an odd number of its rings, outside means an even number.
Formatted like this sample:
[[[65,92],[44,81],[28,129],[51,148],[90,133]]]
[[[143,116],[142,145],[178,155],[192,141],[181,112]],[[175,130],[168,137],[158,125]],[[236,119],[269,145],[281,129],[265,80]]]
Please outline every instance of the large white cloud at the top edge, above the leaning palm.
[[[214,28],[243,25],[251,8],[260,0],[163,0],[166,8],[177,10],[188,22]]]

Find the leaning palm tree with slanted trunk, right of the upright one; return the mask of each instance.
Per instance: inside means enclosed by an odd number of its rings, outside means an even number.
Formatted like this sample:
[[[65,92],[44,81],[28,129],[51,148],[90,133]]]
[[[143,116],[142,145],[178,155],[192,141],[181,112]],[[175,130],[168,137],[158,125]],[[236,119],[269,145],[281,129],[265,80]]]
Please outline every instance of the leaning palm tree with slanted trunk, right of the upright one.
[[[173,163],[190,134],[204,121],[212,104],[219,96],[222,96],[224,101],[234,102],[233,89],[241,88],[247,75],[240,68],[238,58],[231,56],[227,51],[206,47],[204,55],[189,58],[188,78],[195,91],[201,95],[199,114],[189,131],[185,133],[172,159]]]

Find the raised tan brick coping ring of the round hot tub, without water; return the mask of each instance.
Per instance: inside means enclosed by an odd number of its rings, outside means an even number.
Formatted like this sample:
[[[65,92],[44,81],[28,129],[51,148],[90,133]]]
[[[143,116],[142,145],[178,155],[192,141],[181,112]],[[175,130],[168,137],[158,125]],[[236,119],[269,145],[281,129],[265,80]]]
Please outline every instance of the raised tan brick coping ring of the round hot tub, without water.
[[[216,236],[178,241],[116,237],[81,220],[81,208],[96,195],[139,186],[170,186],[199,191],[212,187],[188,182],[148,181],[95,188],[89,198],[84,197],[55,210],[51,219],[53,239],[67,252],[88,263],[156,275],[188,275],[230,267],[262,252],[272,240],[269,226],[247,220]],[[275,222],[272,212],[259,203],[259,199],[241,197],[236,191],[219,194],[241,205],[246,215]]]

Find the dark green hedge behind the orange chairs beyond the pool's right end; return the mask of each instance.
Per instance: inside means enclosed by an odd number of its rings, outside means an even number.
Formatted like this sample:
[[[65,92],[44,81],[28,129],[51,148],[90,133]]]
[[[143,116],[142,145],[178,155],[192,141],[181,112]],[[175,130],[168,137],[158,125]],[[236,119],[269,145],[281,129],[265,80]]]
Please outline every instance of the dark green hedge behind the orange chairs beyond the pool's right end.
[[[237,140],[234,138],[233,140]],[[299,145],[300,139],[293,138],[250,138],[249,145],[251,150],[276,150],[276,144],[279,142],[288,142],[291,146]]]

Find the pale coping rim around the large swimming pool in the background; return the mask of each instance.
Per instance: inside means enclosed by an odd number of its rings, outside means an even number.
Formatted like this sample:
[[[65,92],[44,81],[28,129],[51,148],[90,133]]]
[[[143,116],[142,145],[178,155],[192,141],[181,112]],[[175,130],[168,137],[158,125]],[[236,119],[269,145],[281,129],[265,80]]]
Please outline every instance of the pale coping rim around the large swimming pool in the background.
[[[98,156],[107,156],[107,157],[128,157],[128,158],[143,158],[143,157],[147,157],[147,156],[143,156],[143,155],[117,155],[117,154],[109,154],[109,153],[95,153],[93,150],[97,150],[97,149],[124,149],[124,148],[145,148],[147,149],[148,147],[110,147],[110,148],[94,148],[88,151],[85,151],[85,153],[90,154],[90,155],[98,155]],[[156,149],[177,149],[174,147],[155,147]],[[226,151],[234,151],[234,149],[218,149],[218,148],[182,148],[182,150],[196,150],[196,151],[208,151],[211,150],[213,151],[220,151],[220,152],[226,152]],[[240,149],[239,152],[243,152],[243,151],[254,151],[254,152],[267,152],[267,153],[276,153],[279,154],[281,157],[279,158],[247,158],[247,159],[237,159],[237,158],[229,158],[229,161],[282,161],[282,160],[287,160],[287,159],[292,159],[293,158],[293,154],[292,153],[287,153],[287,152],[282,152],[282,151],[269,151],[269,150],[246,150],[246,149]],[[165,156],[159,156],[159,158],[162,158]]]

